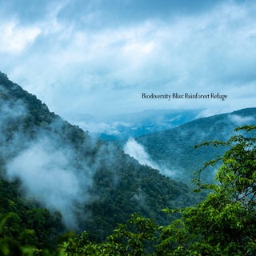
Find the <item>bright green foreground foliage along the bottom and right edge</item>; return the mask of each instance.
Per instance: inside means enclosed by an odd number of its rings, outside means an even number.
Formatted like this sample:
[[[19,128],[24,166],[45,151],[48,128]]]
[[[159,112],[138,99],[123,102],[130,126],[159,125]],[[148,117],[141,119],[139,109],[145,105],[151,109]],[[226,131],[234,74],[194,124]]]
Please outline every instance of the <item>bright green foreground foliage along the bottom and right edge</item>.
[[[75,238],[70,234],[62,236],[58,250],[52,255],[255,255],[256,126],[242,126],[235,131],[238,134],[227,142],[214,140],[199,145],[227,149],[223,156],[206,162],[194,178],[197,193],[210,192],[205,200],[186,209],[164,210],[171,215],[179,212],[181,218],[158,226],[152,219],[133,214],[101,243],[90,242],[87,232]],[[216,182],[202,183],[201,174],[218,162],[221,166]],[[4,220],[0,219],[0,229]],[[6,246],[6,254],[13,248],[30,253],[16,255],[32,255],[30,248],[17,249],[3,239],[0,239],[1,246]],[[42,253],[37,250],[35,254]],[[44,255],[50,253],[44,251]]]

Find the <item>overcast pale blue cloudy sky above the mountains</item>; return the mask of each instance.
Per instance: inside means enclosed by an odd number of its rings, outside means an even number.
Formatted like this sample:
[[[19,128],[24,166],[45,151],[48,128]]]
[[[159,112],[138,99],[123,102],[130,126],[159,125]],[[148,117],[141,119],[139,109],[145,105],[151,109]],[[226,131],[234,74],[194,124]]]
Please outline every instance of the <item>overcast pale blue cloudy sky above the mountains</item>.
[[[238,110],[256,102],[255,13],[254,1],[2,0],[0,70],[61,115]]]

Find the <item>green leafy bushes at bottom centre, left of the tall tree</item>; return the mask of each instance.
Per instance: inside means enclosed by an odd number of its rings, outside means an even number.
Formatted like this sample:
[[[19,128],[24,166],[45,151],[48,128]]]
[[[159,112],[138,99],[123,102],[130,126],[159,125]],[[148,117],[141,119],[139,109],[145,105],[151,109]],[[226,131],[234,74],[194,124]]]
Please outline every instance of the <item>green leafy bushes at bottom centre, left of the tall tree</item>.
[[[147,243],[156,240],[156,230],[158,226],[154,220],[132,214],[126,224],[118,224],[105,242],[90,242],[87,232],[70,238],[64,243],[65,255],[145,255]]]

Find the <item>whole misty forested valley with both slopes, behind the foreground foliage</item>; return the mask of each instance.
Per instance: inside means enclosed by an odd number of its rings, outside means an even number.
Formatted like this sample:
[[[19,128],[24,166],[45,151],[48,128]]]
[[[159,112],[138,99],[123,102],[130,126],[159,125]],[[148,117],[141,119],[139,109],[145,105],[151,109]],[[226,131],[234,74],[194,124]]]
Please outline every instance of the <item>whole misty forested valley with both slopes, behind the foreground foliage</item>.
[[[253,125],[256,108],[207,118],[195,118],[198,113],[191,112],[145,113],[143,122],[143,113],[137,114],[144,131],[131,134],[139,135],[133,139],[127,135],[130,126],[123,126],[124,135],[114,139],[91,137],[90,131],[50,112],[35,95],[0,73],[0,217],[10,218],[2,237],[21,246],[54,250],[59,235],[86,230],[88,245],[105,245],[116,226],[126,228],[127,220],[141,218],[134,213],[144,216],[142,223],[152,224],[154,219],[154,225],[167,228],[181,215],[163,209],[199,206],[207,191],[194,194],[193,173],[226,150],[221,145],[197,150],[194,146],[226,141],[235,127]],[[156,113],[162,113],[168,125],[154,129],[172,128],[145,133]],[[130,122],[131,115],[125,118]],[[202,182],[213,182],[217,169],[218,165],[206,169]],[[34,230],[32,235],[23,236],[28,230]],[[153,249],[147,245],[146,250],[149,254]]]

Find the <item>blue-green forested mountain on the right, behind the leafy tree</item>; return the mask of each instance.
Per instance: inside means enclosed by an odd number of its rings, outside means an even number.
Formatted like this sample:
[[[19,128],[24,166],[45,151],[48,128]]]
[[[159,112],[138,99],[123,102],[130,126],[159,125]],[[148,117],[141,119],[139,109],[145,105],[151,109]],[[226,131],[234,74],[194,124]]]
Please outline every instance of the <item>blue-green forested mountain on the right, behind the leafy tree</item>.
[[[225,148],[194,146],[205,141],[225,141],[234,134],[234,128],[255,124],[256,108],[247,108],[228,114],[217,114],[208,118],[198,118],[170,130],[162,130],[135,138],[143,146],[146,154],[162,174],[175,180],[190,183],[193,172],[202,168],[204,162],[222,155]],[[126,142],[119,142],[120,146]],[[212,182],[216,168],[202,173],[204,182]]]

